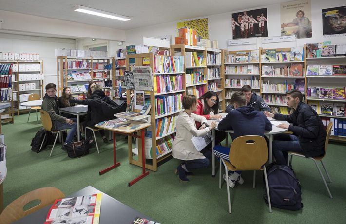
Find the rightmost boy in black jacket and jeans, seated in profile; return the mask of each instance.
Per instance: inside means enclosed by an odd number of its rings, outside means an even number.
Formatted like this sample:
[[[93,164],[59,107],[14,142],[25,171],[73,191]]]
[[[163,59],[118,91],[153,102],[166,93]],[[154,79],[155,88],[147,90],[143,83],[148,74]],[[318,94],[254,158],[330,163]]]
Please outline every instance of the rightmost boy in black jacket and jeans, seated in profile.
[[[326,130],[321,118],[308,104],[302,102],[299,90],[286,92],[287,105],[295,111],[290,115],[265,112],[267,117],[285,120],[292,125],[280,124],[277,127],[288,129],[293,134],[276,134],[273,141],[273,153],[276,163],[287,165],[288,151],[303,153],[306,157],[325,153]]]

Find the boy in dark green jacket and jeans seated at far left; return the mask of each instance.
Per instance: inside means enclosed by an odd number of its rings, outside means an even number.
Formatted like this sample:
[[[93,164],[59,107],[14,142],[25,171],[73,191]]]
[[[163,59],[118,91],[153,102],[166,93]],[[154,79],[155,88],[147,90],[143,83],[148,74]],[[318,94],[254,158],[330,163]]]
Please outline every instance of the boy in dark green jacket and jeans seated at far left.
[[[48,83],[45,89],[46,94],[43,97],[42,110],[48,112],[51,117],[53,123],[52,130],[71,129],[67,134],[65,145],[72,143],[77,131],[77,118],[68,119],[59,115],[58,97],[55,95],[57,86],[54,83]],[[64,149],[65,145],[62,146],[62,149]]]

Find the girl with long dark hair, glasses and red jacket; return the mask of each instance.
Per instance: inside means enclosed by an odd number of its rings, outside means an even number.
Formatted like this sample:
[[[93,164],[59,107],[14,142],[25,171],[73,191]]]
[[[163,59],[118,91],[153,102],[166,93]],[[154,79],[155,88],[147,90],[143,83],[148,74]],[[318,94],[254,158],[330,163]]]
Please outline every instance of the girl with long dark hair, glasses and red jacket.
[[[209,119],[222,119],[220,114],[217,114],[219,110],[219,97],[214,91],[208,91],[199,97],[197,101],[197,110],[193,113]],[[201,127],[200,122],[196,122],[196,127],[199,129]],[[205,125],[204,125],[205,128]],[[223,131],[215,130],[215,145],[219,144],[226,138],[226,133]],[[211,147],[211,144],[209,148]]]

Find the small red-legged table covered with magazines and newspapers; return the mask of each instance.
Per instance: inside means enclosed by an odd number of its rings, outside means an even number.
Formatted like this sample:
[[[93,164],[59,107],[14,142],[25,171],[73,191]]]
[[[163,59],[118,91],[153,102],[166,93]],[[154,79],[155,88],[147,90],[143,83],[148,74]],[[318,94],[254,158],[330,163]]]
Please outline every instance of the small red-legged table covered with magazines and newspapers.
[[[142,160],[142,174],[139,175],[138,177],[136,177],[134,180],[129,182],[129,186],[132,186],[133,184],[135,184],[137,181],[139,181],[143,177],[149,175],[149,171],[145,171],[145,135],[144,135],[144,130],[145,130],[145,128],[150,127],[151,124],[150,123],[142,123],[139,121],[127,121],[127,122],[131,122],[131,125],[139,125],[139,127],[136,127],[135,129],[107,128],[106,123],[103,125],[95,125],[95,127],[99,128],[99,129],[105,129],[105,130],[113,131],[113,165],[108,167],[108,168],[102,169],[99,172],[100,175],[104,174],[105,172],[108,172],[111,169],[114,169],[114,168],[120,166],[120,163],[116,162],[116,140],[115,140],[115,134],[116,133],[141,138],[141,140],[142,140],[141,141],[142,152],[140,153],[140,151],[138,150],[138,158],[141,158],[141,160]],[[133,134],[134,132],[141,132],[141,135],[139,136],[139,135]],[[130,158],[130,156],[132,156],[132,140],[131,140],[131,142],[130,142],[130,140],[128,140],[128,143],[129,143],[129,158]],[[140,156],[140,154],[142,154],[142,156]]]

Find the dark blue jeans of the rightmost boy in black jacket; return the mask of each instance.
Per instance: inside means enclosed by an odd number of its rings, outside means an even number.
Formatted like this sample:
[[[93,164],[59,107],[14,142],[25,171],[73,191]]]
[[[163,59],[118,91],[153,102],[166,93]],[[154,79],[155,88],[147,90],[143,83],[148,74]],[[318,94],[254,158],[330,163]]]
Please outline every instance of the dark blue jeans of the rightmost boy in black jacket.
[[[288,151],[303,152],[298,136],[292,134],[274,135],[273,153],[277,164],[287,165]]]

